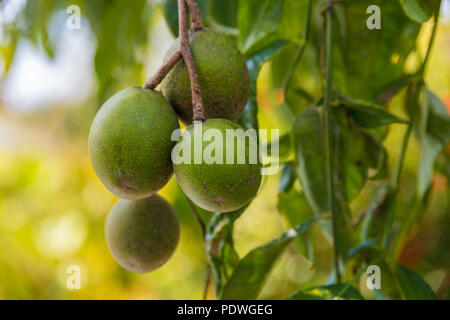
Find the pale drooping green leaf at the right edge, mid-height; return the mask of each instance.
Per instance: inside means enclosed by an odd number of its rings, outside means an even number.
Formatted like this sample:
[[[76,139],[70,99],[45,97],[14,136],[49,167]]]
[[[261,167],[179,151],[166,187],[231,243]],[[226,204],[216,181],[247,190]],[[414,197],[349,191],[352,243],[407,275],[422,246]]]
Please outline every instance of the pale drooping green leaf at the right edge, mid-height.
[[[439,153],[450,142],[450,116],[442,101],[430,90],[423,90],[421,120],[415,125],[421,142],[417,176],[417,193],[422,198],[430,187],[433,168]],[[425,123],[421,125],[421,123]]]

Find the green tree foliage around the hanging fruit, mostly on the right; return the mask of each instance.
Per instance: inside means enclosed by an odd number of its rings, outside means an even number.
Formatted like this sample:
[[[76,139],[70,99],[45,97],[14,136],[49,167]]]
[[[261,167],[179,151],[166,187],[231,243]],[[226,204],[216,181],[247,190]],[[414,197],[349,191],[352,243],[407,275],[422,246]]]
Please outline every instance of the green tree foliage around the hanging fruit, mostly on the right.
[[[106,0],[76,3],[87,13],[85,18],[97,38],[94,63],[99,97],[104,99],[118,78],[129,72],[142,73],[145,61],[136,61],[135,51],[149,41],[155,8],[145,0],[113,1],[114,5]],[[278,212],[289,230],[239,257],[234,248],[233,225],[246,207],[213,214],[206,247],[216,296],[258,298],[276,261],[291,243],[314,263],[312,230],[318,228],[334,238],[343,281],[332,280],[327,285],[306,288],[290,299],[361,299],[355,285],[358,272],[373,261],[381,261],[392,279],[375,297],[435,299],[436,294],[419,274],[393,261],[408,231],[426,209],[436,163],[448,167],[448,153],[443,150],[450,142],[450,118],[442,101],[424,82],[428,53],[415,72],[405,71],[408,57],[418,50],[416,40],[423,23],[437,19],[440,1],[199,0],[198,3],[206,25],[228,34],[247,59],[251,95],[238,123],[245,128],[259,127],[257,81],[265,63],[271,64],[272,82],[283,90],[284,106],[292,115],[289,130],[280,140],[282,171],[277,195]],[[5,26],[1,54],[6,70],[14,57],[19,34],[26,35],[52,57],[47,33],[49,19],[51,12],[63,10],[66,5],[66,1],[27,2],[21,14],[28,24]],[[366,9],[370,5],[381,8],[381,30],[366,26],[370,15]],[[176,36],[176,1],[164,0],[160,6]],[[45,14],[33,15],[36,10]],[[326,19],[328,10],[332,10],[331,24]],[[36,16],[39,19],[32,18]],[[331,42],[326,43],[328,28]],[[433,36],[429,50],[432,40]],[[326,65],[328,50],[332,65]],[[328,106],[324,99],[327,68],[332,69]],[[313,84],[304,81],[306,78],[313,78]],[[398,110],[389,110],[392,99],[399,96],[403,99],[405,116],[398,116],[402,113]],[[326,161],[327,110],[331,165]],[[389,170],[389,152],[383,142],[392,124],[403,125],[406,133],[397,165]],[[411,200],[414,210],[400,217],[399,176],[404,149],[413,138],[420,145],[415,195]],[[330,170],[333,194],[327,188]],[[448,170],[446,174],[449,177]],[[377,189],[366,210],[353,212],[352,202],[373,181],[377,182]],[[357,216],[361,218],[355,219]]]

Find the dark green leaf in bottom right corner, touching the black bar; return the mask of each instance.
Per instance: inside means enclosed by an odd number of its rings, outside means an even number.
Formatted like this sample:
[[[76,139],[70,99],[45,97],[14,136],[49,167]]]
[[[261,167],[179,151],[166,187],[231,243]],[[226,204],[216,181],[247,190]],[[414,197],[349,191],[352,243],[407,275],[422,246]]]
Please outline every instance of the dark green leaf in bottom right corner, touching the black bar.
[[[394,265],[393,274],[405,300],[437,300],[438,297],[422,277],[411,269]]]

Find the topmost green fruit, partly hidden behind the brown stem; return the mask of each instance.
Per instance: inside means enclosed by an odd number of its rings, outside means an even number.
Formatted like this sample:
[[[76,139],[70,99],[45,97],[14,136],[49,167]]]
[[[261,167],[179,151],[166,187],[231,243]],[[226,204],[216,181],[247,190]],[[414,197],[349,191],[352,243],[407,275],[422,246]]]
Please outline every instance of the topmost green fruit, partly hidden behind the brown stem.
[[[244,56],[223,34],[203,29],[189,34],[197,68],[206,119],[236,121],[250,94],[248,69]],[[177,49],[178,40],[166,54]],[[186,64],[180,60],[161,84],[164,96],[185,124],[192,123],[191,85]]]

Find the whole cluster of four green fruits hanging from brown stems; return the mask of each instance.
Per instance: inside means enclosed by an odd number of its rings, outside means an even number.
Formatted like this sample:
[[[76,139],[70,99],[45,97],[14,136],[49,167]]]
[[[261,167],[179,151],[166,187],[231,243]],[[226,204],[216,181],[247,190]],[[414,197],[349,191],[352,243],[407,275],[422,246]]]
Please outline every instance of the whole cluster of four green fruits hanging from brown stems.
[[[202,130],[214,128],[225,137],[227,129],[240,128],[233,121],[249,96],[245,59],[226,36],[211,30],[191,33],[189,41],[207,118]],[[178,41],[167,57],[177,49]],[[160,267],[178,244],[178,218],[169,203],[156,194],[173,172],[186,196],[208,211],[229,212],[244,206],[261,182],[259,161],[173,164],[175,144],[191,142],[171,140],[179,129],[177,115],[189,125],[186,130],[192,131],[196,125],[191,124],[191,85],[183,60],[166,76],[161,90],[164,96],[140,87],[116,93],[97,113],[89,134],[89,154],[97,176],[123,198],[107,217],[108,247],[120,265],[138,273]],[[207,146],[204,141],[201,144]]]

